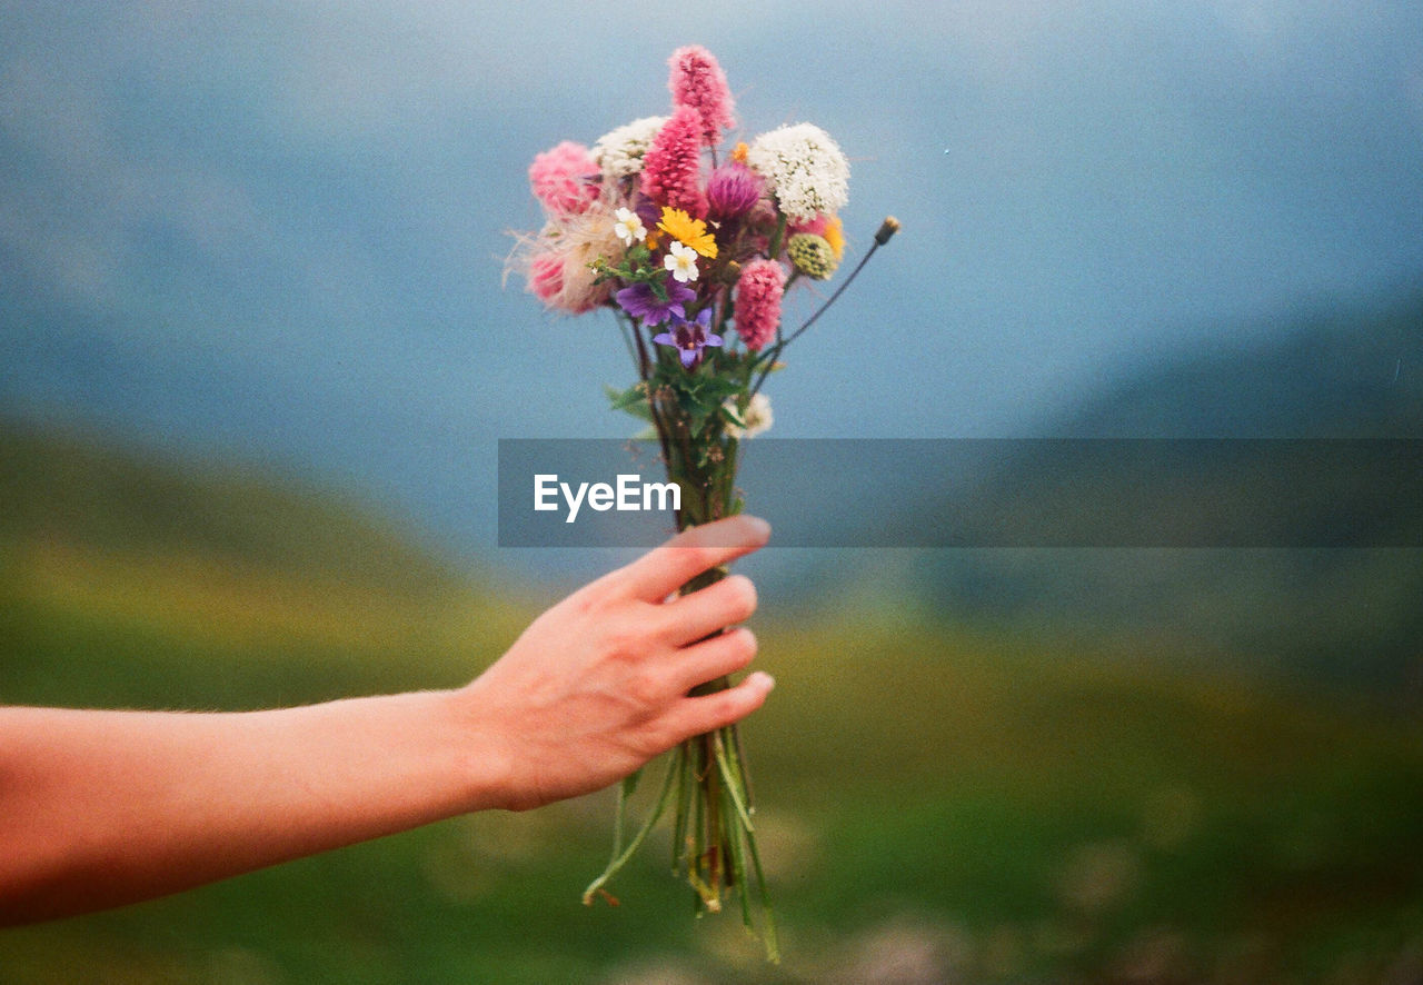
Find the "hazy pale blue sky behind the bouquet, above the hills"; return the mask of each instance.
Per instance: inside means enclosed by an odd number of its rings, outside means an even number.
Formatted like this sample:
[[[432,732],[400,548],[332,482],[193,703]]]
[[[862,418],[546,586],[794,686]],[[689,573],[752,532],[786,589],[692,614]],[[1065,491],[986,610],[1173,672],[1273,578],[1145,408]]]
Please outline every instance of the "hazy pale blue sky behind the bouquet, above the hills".
[[[609,319],[501,280],[532,155],[714,51],[852,161],[781,437],[1033,433],[1170,353],[1423,272],[1423,9],[0,3],[0,406],[354,481],[488,542],[499,437],[616,437]],[[810,297],[803,300],[810,310]]]

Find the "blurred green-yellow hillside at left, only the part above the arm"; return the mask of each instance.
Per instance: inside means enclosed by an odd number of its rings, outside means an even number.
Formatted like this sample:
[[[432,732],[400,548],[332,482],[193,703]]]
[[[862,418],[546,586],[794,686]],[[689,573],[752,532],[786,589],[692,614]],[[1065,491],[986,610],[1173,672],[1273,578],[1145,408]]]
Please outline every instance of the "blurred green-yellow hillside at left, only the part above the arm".
[[[250,467],[6,423],[0,502],[3,700],[228,707],[427,686],[509,632],[509,601],[411,531]]]

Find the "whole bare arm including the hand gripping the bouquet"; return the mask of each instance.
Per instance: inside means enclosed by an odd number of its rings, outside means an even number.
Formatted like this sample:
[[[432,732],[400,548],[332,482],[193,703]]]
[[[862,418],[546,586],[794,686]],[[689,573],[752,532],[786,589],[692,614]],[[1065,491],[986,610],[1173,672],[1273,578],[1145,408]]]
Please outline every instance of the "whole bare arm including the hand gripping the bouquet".
[[[689,531],[539,616],[470,685],[236,713],[0,709],[0,922],[164,895],[472,810],[598,790],[758,707],[756,608],[733,576],[766,542]]]

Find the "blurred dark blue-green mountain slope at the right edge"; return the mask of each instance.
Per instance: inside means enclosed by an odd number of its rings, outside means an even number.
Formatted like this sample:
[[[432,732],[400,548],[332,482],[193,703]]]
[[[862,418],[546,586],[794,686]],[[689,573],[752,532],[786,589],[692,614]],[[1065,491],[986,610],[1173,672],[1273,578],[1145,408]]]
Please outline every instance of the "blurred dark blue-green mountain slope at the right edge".
[[[1416,689],[1417,446],[1369,440],[1423,437],[1423,295],[1249,347],[1221,337],[908,510],[988,547],[915,555],[906,591],[1047,638]]]

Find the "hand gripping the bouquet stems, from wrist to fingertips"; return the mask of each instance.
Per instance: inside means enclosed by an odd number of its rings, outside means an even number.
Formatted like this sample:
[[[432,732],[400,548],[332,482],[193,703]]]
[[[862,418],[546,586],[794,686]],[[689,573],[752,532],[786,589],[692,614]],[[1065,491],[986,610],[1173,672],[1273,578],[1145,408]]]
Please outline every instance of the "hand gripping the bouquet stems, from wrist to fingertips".
[[[601,790],[684,739],[746,717],[773,680],[692,697],[756,656],[756,588],[730,575],[672,596],[696,575],[763,547],[770,527],[730,517],[697,527],[568,596],[458,692],[495,779],[481,806],[525,810]]]

